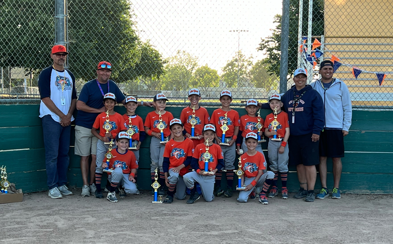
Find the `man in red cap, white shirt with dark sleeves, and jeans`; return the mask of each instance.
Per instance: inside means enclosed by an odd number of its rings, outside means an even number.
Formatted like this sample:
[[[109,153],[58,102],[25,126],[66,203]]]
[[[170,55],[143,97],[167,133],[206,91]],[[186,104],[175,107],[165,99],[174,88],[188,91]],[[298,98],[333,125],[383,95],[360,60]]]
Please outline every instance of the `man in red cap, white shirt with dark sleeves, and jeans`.
[[[77,94],[75,77],[64,68],[67,55],[65,46],[55,45],[50,55],[53,65],[42,70],[38,80],[48,196],[52,199],[72,194],[65,184]]]

